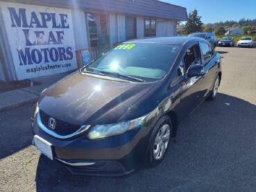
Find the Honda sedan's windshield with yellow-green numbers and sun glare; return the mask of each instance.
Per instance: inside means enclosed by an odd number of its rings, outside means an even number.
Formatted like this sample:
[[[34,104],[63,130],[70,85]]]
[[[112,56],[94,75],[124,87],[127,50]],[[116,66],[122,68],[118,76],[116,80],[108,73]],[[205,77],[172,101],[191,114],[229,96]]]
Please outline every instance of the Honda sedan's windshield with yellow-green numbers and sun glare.
[[[123,43],[94,60],[84,71],[118,78],[125,76],[115,76],[117,73],[144,81],[160,80],[171,69],[179,48],[173,44]]]

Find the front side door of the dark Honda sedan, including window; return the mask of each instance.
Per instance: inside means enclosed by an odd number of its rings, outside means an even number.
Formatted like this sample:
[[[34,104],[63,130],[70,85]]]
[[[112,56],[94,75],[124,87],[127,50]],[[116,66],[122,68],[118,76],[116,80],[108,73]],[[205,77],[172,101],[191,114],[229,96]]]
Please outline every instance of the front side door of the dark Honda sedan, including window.
[[[183,121],[203,101],[203,76],[192,78],[187,76],[191,64],[202,64],[200,55],[200,47],[196,43],[187,49],[182,59],[185,75],[182,78],[180,90],[180,121]]]

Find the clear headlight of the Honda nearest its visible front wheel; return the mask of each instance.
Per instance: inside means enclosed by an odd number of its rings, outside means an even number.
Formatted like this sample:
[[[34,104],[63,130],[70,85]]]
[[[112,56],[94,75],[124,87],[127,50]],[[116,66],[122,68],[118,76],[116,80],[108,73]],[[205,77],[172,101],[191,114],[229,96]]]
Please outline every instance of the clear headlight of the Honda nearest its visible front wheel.
[[[89,139],[100,139],[104,137],[111,137],[118,134],[123,134],[128,130],[141,128],[145,123],[146,116],[142,116],[132,121],[125,121],[121,123],[114,123],[108,125],[95,125],[89,131],[87,137]]]

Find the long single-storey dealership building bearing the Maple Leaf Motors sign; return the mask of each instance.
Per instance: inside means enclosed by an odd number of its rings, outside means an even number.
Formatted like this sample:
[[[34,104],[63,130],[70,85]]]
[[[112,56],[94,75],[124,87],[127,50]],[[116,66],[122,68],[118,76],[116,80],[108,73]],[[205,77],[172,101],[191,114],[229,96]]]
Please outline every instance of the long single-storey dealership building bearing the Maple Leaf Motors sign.
[[[0,80],[70,71],[112,46],[175,36],[187,10],[157,0],[0,1]]]

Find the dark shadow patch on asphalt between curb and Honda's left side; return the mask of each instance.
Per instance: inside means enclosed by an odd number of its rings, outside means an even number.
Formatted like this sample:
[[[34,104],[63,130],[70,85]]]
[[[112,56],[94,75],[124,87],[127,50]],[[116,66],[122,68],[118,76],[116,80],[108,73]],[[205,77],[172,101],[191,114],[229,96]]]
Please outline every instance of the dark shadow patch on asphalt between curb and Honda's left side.
[[[0,114],[0,159],[31,145],[33,132],[30,125],[33,104],[6,110]]]

